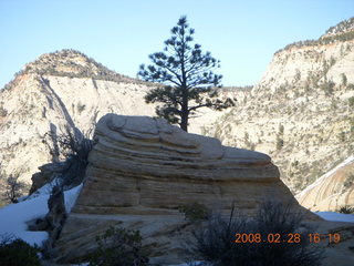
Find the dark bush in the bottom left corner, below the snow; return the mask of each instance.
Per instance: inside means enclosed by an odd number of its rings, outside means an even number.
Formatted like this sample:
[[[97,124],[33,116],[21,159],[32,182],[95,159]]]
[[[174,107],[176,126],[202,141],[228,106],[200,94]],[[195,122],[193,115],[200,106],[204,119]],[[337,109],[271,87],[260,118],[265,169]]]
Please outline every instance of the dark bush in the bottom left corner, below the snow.
[[[40,266],[38,249],[22,239],[3,237],[0,241],[0,265],[3,266]]]

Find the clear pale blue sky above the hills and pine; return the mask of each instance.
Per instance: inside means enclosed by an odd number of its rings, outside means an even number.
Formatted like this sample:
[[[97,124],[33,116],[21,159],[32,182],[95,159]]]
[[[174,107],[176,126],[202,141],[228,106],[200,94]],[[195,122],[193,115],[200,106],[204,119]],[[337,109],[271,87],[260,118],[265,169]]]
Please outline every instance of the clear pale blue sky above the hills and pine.
[[[186,14],[223,85],[256,84],[273,53],[354,16],[354,0],[0,0],[0,88],[42,53],[79,50],[135,76]]]

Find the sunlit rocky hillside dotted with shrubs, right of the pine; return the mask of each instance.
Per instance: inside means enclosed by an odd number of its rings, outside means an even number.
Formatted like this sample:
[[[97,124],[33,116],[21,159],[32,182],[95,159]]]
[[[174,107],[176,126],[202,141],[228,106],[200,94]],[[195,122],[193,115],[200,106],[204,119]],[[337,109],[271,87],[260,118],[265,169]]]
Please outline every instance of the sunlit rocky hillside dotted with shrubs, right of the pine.
[[[346,158],[354,151],[353,24],[275,52],[259,84],[205,133],[270,154],[294,192]]]

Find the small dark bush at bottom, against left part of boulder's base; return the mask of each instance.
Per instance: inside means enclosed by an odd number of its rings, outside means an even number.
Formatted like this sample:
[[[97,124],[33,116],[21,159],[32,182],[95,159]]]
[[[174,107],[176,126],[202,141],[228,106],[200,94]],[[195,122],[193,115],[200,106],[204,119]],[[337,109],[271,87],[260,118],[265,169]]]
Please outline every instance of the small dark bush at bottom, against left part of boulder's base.
[[[96,237],[98,249],[91,255],[90,266],[144,266],[148,264],[138,231],[111,226]]]

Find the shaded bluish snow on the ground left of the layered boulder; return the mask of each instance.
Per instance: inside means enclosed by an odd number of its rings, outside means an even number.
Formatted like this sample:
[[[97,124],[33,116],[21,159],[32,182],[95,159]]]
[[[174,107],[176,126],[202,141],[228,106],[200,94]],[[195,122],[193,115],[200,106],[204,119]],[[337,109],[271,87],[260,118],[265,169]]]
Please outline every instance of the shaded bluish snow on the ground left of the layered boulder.
[[[48,213],[50,191],[48,185],[40,188],[39,193],[17,204],[9,204],[0,208],[0,239],[1,235],[22,238],[30,245],[41,246],[48,238],[46,232],[28,231],[27,222],[44,217]],[[65,208],[70,212],[80,194],[82,184],[64,192]]]

